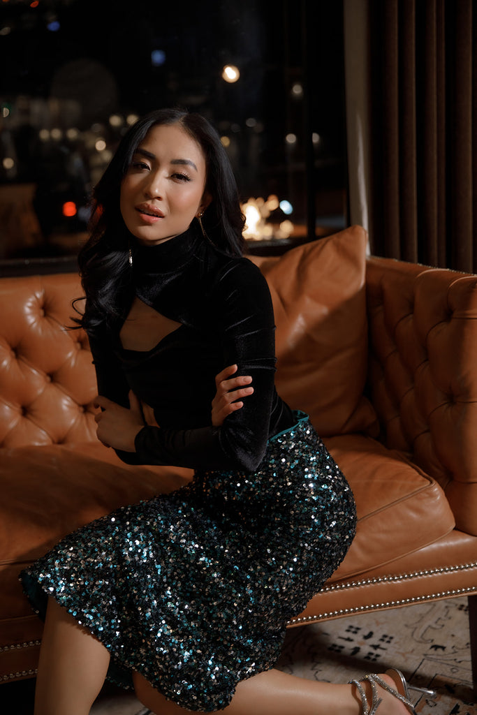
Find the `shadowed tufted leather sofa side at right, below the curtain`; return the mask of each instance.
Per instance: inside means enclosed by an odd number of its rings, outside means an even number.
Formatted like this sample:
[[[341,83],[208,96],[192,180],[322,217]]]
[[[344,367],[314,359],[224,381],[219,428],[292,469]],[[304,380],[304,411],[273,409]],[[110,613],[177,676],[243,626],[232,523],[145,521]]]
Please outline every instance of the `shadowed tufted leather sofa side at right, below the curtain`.
[[[477,276],[370,258],[370,388],[383,440],[477,536]]]

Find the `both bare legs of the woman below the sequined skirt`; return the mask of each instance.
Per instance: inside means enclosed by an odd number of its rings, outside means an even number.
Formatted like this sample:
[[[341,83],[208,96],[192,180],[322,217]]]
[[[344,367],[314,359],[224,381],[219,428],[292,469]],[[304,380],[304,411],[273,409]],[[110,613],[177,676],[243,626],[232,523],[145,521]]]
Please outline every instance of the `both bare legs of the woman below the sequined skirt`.
[[[89,631],[50,598],[36,680],[35,715],[89,715],[102,689],[109,652]],[[393,679],[383,676],[392,686]],[[133,674],[137,697],[157,715],[191,711],[168,701],[142,676]],[[368,691],[368,684],[363,684]],[[368,691],[368,695],[370,692]],[[377,715],[408,715],[408,709],[383,689]],[[226,715],[360,715],[354,686],[320,683],[275,669],[238,684]]]

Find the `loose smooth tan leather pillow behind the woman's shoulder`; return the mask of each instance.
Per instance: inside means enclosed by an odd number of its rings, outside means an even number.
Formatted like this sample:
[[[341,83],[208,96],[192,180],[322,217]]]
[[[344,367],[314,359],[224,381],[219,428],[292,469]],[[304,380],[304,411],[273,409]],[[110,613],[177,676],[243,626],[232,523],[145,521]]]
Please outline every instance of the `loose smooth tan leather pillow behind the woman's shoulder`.
[[[307,412],[322,436],[375,436],[377,430],[375,411],[363,396],[366,244],[365,230],[353,226],[280,258],[252,258],[272,294],[278,394]]]

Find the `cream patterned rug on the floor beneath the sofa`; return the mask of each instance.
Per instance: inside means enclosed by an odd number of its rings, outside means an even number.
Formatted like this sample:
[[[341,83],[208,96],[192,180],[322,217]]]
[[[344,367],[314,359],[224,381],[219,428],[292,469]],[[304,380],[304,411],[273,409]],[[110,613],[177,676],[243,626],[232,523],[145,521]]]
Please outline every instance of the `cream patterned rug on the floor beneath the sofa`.
[[[466,598],[292,628],[279,666],[303,678],[332,683],[394,666],[411,683],[437,691],[435,700],[418,700],[419,714],[477,715]],[[0,711],[33,715],[33,686],[33,681],[0,686]],[[147,713],[134,696],[109,686],[91,711],[91,715]]]

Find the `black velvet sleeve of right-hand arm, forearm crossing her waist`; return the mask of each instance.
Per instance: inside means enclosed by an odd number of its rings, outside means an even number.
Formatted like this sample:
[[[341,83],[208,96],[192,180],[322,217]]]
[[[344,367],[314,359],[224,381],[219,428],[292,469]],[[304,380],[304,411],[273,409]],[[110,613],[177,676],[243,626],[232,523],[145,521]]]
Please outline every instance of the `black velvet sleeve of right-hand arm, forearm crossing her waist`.
[[[231,262],[212,286],[210,306],[220,332],[222,368],[237,364],[237,375],[252,376],[254,393],[220,428],[144,427],[135,440],[143,463],[254,470],[263,458],[276,400],[275,325],[265,278],[249,261]]]

